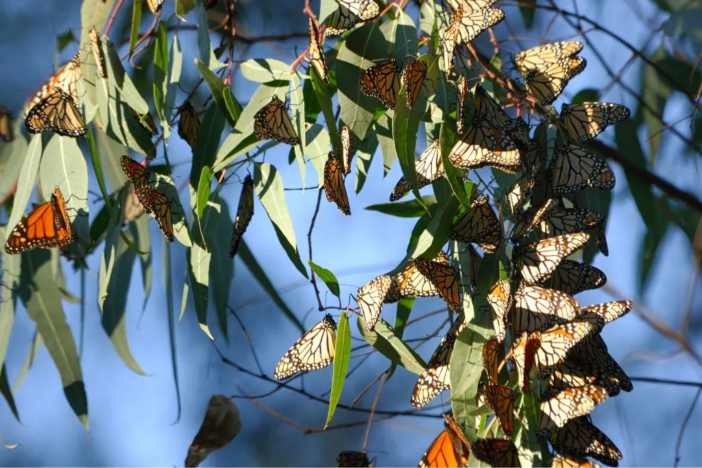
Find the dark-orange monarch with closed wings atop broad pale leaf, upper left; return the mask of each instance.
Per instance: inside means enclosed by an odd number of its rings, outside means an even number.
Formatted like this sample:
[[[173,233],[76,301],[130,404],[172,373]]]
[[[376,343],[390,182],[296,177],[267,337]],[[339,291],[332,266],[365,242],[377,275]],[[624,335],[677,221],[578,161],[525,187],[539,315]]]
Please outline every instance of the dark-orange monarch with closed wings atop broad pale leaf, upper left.
[[[84,136],[88,131],[73,98],[60,88],[27,112],[25,126],[30,134],[53,131],[73,138]]]

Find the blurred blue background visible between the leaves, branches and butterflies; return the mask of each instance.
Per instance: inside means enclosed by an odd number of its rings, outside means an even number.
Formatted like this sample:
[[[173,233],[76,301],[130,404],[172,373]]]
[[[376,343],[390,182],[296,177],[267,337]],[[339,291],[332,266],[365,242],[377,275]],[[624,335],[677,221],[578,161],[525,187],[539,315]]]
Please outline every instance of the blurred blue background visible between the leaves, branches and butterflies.
[[[130,11],[129,4],[131,2],[126,2],[125,11]],[[239,28],[240,34],[256,36],[285,32],[304,33],[307,30],[307,19],[301,13],[301,0],[241,0],[239,4],[241,11],[246,12],[241,17],[243,24]],[[558,1],[557,4],[562,8],[574,10],[572,1]],[[319,11],[317,1],[313,1],[312,6]],[[173,11],[173,1],[166,0],[165,8],[166,13]],[[577,8],[581,14],[588,15],[601,25],[616,29],[624,39],[637,46],[649,41],[649,22],[659,25],[665,20],[665,15],[657,13],[653,2],[643,0],[579,1]],[[410,8],[408,12],[418,20],[416,8]],[[542,36],[545,40],[574,38],[574,32],[562,22],[548,27],[550,15],[538,13],[538,22],[534,29],[525,32],[515,6],[505,6],[505,13],[505,24],[496,28],[496,36],[501,40],[505,39],[501,43],[504,56],[514,53],[519,48],[536,45],[543,41]],[[150,13],[145,11],[145,16],[150,20]],[[55,65],[70,58],[77,50],[77,44],[72,44],[59,57],[54,53],[55,37],[58,34],[72,28],[77,36],[80,35],[80,2],[2,1],[0,18],[0,57],[5,64],[4,72],[0,74],[0,103],[16,116],[21,112],[25,98],[41,86],[51,70],[55,69]],[[193,15],[189,15],[188,19],[189,24],[197,21]],[[145,27],[146,25],[143,25],[142,30]],[[114,34],[118,34],[117,32],[119,28],[115,28]],[[192,58],[197,54],[197,37],[194,32],[182,31],[179,34],[185,52],[185,77],[181,85],[183,89],[188,90],[197,82],[196,70],[192,65]],[[119,39],[117,35],[112,34],[110,38],[115,42]],[[513,40],[514,38],[518,38],[519,41]],[[591,39],[595,46],[604,51],[614,70],[620,69],[630,58],[628,51],[603,34],[592,34]],[[218,39],[215,42],[218,42]],[[661,39],[656,38],[651,47],[656,48],[660,43]],[[306,46],[306,39],[257,45],[251,48],[246,58],[272,57],[291,63]],[[555,104],[557,108],[560,103],[568,102],[569,97],[579,90],[609,82],[597,58],[591,55],[588,47],[581,55],[588,59],[588,67],[569,84],[567,91]],[[640,70],[640,63],[635,63],[628,68],[623,77],[635,89],[639,89],[640,86]],[[234,95],[244,104],[255,86],[238,75],[234,78]],[[184,97],[185,93],[179,96],[176,102],[182,102]],[[202,108],[203,97],[204,95],[199,95],[194,100],[197,109]],[[630,105],[632,110],[635,108],[635,101],[617,86],[613,86],[602,100],[624,103]],[[675,97],[665,109],[668,122],[676,122],[688,113],[689,110],[684,108],[682,99]],[[679,129],[689,134],[687,124]],[[611,143],[613,134],[613,131],[607,131],[600,139]],[[190,161],[190,148],[177,136],[173,136],[169,144],[171,161]],[[423,148],[418,146],[417,149],[420,151]],[[656,172],[680,188],[702,197],[701,176],[696,171],[695,161],[691,157],[683,157],[683,150],[680,142],[666,134],[658,152]],[[295,164],[287,164],[287,153],[288,147],[280,145],[279,148],[267,152],[265,158],[281,171],[287,188],[299,188],[302,183],[298,167]],[[409,238],[415,222],[414,219],[388,218],[363,209],[370,204],[385,202],[401,175],[399,164],[396,163],[388,176],[383,178],[380,154],[376,155],[375,159],[366,186],[360,195],[352,194],[355,175],[350,176],[350,180],[347,181],[353,215],[345,218],[333,204],[323,200],[312,238],[315,263],[329,268],[336,274],[342,283],[344,299],[348,294],[355,294],[359,285],[397,265],[406,252],[406,239]],[[157,162],[162,162],[162,159]],[[614,163],[611,163],[611,167],[615,171],[617,185],[613,190],[607,221],[610,254],[609,257],[598,254],[594,265],[607,274],[608,285],[620,292],[621,296],[613,298],[599,290],[584,292],[578,295],[577,299],[583,306],[614,299],[633,299],[637,304],[645,304],[665,323],[677,328],[680,326],[684,301],[689,294],[689,277],[694,268],[689,242],[680,230],[668,230],[658,251],[651,280],[642,294],[639,294],[637,278],[645,227],[628,193],[621,167]],[[176,186],[183,183],[189,171],[189,166],[180,171],[176,170]],[[93,174],[92,168],[90,173]],[[317,174],[312,165],[308,164],[305,186],[312,187],[316,183]],[[98,192],[97,183],[92,179],[90,187],[93,193]],[[225,186],[221,192],[232,213],[237,206],[239,190],[238,181],[232,178],[230,185]],[[430,189],[423,190],[423,193],[428,190]],[[91,196],[90,200],[93,214],[101,206],[101,202],[95,198],[96,196]],[[181,198],[187,200],[187,194],[182,193]],[[315,190],[286,193],[303,261],[307,259],[305,234],[316,200]],[[164,283],[160,273],[163,247],[156,223],[151,223],[151,226],[154,240],[154,287],[142,316],[141,274],[140,271],[134,271],[129,285],[130,300],[127,313],[131,351],[149,375],[136,375],[126,368],[100,325],[97,285],[102,249],[99,249],[99,254],[95,254],[88,261],[90,271],[86,275],[86,339],[81,360],[88,392],[90,434],[86,434],[84,427],[69,408],[58,372],[46,349],[41,349],[32,370],[15,394],[22,424],[14,420],[4,403],[0,403],[2,440],[8,444],[21,444],[14,450],[0,450],[2,464],[182,466],[187,447],[199,428],[207,402],[213,394],[258,395],[274,389],[274,385],[270,383],[247,377],[221,363],[213,342],[199,330],[191,300],[183,320],[176,329],[183,404],[183,412],[178,420],[168,347]],[[321,314],[316,310],[317,301],[312,286],[288,261],[258,200],[256,215],[244,239],[273,284],[282,292],[286,303],[301,320],[304,320],[305,327],[316,323]],[[186,268],[185,248],[176,242],[171,246],[171,253],[176,294],[174,299],[178,308],[183,272]],[[244,265],[238,259],[235,259],[234,264],[235,277],[230,291],[230,304],[237,310],[247,331],[253,337],[264,370],[272,375],[279,358],[298,339],[298,330],[282,316],[272,301],[265,297]],[[79,294],[79,277],[72,275],[69,266],[65,266],[65,271],[69,289],[74,294]],[[698,347],[702,305],[699,280],[695,286],[697,294],[693,300],[690,339]],[[324,294],[324,285],[320,284],[320,289]],[[323,299],[326,299],[326,304],[335,304],[331,294]],[[435,311],[441,306],[439,299],[418,299],[413,317]],[[78,337],[79,306],[65,303],[64,307],[69,325]],[[395,306],[388,305],[383,308],[383,317],[386,320],[392,323],[394,316]],[[432,320],[420,322],[406,332],[406,337],[426,336],[435,330],[439,319],[443,317],[439,314]],[[213,315],[210,322],[215,323]],[[230,341],[224,342],[221,334],[215,329],[214,344],[227,357],[255,370],[251,351],[237,323],[230,319],[229,327]],[[355,320],[352,320],[352,331],[355,331]],[[7,357],[11,382],[15,381],[20,372],[33,333],[34,325],[22,308],[18,307]],[[425,360],[435,349],[441,335],[442,333],[439,337],[430,339],[418,349]],[[607,325],[602,335],[610,353],[631,377],[702,381],[699,366],[688,356],[677,353],[675,344],[651,330],[635,313]],[[355,336],[358,336],[357,331]],[[362,342],[355,339],[352,346],[360,344]],[[358,359],[353,359],[351,367],[358,362]],[[343,403],[349,403],[366,384],[385,369],[386,365],[385,358],[371,356],[362,368],[347,380],[342,396]],[[385,384],[378,408],[411,409],[409,395],[415,381],[416,375],[399,368],[395,376]],[[303,381],[297,380],[295,385],[299,386],[300,382],[304,382],[305,389],[314,394],[322,394],[319,389],[328,388],[331,382],[331,367],[312,372],[305,376]],[[377,387],[373,387],[365,394],[358,403],[359,408],[371,407],[376,390]],[[625,457],[623,466],[670,466],[675,460],[678,432],[695,394],[696,389],[691,387],[635,382],[632,393],[622,393],[616,398],[611,398],[598,407],[592,417],[597,427],[622,450]],[[444,397],[446,395],[444,394]],[[241,411],[241,433],[229,446],[208,457],[202,466],[331,466],[341,450],[360,450],[362,446],[365,424],[348,429],[329,430],[322,434],[305,435],[299,429],[272,417],[256,404],[263,404],[266,408],[279,412],[300,427],[321,429],[326,417],[326,405],[311,401],[300,394],[283,390],[257,402],[239,399],[235,403]],[[449,403],[442,405],[441,398],[432,401],[431,405],[435,410],[428,412],[428,415],[433,416],[439,415],[442,409],[449,408]],[[338,410],[334,422],[342,424],[363,422],[366,419],[365,412]],[[697,405],[680,442],[682,466],[702,463],[698,451],[698,441],[702,439],[701,421],[702,405]],[[437,417],[396,417],[376,422],[371,427],[367,449],[371,457],[377,457],[378,466],[413,466],[442,428],[442,420]]]

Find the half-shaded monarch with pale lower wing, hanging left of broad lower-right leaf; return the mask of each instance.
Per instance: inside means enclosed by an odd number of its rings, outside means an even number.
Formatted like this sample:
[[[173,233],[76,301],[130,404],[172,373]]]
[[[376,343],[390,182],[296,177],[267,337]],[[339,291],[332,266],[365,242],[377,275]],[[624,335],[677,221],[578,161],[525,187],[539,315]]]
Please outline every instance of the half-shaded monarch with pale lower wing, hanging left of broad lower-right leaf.
[[[413,407],[423,408],[442,391],[451,389],[451,376],[449,375],[451,353],[453,353],[453,345],[456,344],[456,337],[461,334],[464,327],[465,316],[460,313],[432,354],[427,368],[417,379],[410,401]]]

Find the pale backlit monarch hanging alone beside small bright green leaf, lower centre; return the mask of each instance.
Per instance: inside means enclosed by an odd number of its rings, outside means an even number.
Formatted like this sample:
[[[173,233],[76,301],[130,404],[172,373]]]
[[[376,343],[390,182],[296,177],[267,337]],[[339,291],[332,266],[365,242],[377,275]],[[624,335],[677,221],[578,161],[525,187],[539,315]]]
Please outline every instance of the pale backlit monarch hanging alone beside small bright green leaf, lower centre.
[[[298,372],[325,368],[334,360],[335,346],[336,322],[326,314],[283,355],[273,377],[284,380]]]

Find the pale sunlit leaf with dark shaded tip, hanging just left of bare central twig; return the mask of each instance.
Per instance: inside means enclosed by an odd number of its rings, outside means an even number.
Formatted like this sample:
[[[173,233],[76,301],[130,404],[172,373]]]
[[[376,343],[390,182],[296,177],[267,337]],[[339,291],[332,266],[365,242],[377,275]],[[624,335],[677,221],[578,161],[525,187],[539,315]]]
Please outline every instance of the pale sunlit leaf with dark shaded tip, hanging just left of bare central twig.
[[[280,245],[298,271],[308,278],[305,266],[300,260],[293,222],[288,214],[282,177],[271,164],[256,162],[253,166],[253,183],[256,195],[273,223]]]

